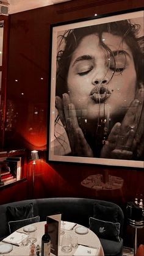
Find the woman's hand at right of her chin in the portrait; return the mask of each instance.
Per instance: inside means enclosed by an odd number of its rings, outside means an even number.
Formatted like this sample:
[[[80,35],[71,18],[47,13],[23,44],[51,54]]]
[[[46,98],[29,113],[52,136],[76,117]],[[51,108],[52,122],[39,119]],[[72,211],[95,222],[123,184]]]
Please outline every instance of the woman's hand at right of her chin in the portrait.
[[[142,156],[144,150],[143,98],[144,90],[141,86],[123,122],[113,126],[106,145],[101,150],[101,158],[136,159]]]

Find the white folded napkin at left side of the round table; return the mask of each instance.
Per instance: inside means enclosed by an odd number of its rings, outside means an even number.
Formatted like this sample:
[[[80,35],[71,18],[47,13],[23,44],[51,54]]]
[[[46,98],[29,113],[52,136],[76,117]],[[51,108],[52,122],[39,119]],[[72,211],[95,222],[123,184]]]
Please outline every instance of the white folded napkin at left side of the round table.
[[[7,236],[6,238],[4,238],[2,241],[5,243],[10,243],[10,244],[16,244],[19,245],[21,243],[22,240],[22,236],[25,235],[23,237],[26,238],[28,235],[24,234],[24,233],[18,233],[18,232],[13,232],[11,235]]]

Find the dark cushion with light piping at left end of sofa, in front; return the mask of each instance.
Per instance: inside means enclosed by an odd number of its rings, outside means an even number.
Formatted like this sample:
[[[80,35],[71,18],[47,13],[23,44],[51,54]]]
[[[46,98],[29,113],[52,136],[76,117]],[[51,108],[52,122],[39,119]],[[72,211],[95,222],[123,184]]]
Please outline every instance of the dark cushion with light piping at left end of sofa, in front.
[[[35,216],[34,218],[29,219],[21,219],[20,221],[9,221],[9,230],[10,234],[13,233],[15,230],[20,229],[26,225],[39,222],[40,216]]]

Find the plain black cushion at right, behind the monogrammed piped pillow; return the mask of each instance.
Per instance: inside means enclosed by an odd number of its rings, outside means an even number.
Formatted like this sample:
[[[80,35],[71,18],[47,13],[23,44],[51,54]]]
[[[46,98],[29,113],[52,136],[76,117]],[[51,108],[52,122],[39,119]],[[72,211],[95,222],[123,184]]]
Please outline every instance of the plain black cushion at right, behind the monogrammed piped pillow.
[[[103,221],[118,221],[118,207],[117,205],[102,205],[99,202],[93,205],[93,218],[101,219]]]

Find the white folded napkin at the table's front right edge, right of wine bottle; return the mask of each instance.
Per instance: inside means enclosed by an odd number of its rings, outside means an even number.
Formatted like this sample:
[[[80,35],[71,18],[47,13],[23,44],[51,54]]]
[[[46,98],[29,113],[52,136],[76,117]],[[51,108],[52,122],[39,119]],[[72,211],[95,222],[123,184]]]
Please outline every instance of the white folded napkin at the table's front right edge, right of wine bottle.
[[[73,256],[95,256],[97,249],[87,247],[87,246],[78,246],[76,252],[74,252]]]

